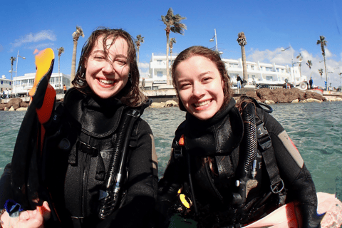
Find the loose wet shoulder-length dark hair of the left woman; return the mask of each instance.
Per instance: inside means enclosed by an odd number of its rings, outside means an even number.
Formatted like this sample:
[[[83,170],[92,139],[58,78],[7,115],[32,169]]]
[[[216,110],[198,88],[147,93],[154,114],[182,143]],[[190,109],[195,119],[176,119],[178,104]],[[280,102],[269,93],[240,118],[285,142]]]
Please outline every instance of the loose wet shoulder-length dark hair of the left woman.
[[[105,44],[108,39],[113,39],[112,43],[110,43],[110,46],[112,46],[118,38],[123,38],[128,44],[127,62],[130,67],[130,73],[128,75],[129,78],[125,87],[122,90],[120,90],[119,93],[115,96],[119,98],[125,105],[131,107],[135,107],[140,105],[141,103],[144,103],[145,100],[147,100],[147,98],[139,88],[140,74],[137,64],[135,43],[133,41],[133,37],[130,36],[130,33],[120,28],[112,29],[100,27],[93,31],[93,33],[91,33],[88,40],[83,45],[76,76],[72,82],[73,86],[75,86],[75,88],[80,90],[82,93],[93,93],[93,91],[90,89],[86,81],[85,66],[90,56],[90,53],[93,51],[93,48],[100,37],[103,41],[103,50],[108,50],[108,46],[106,46]],[[106,51],[105,56],[108,57],[108,52]]]

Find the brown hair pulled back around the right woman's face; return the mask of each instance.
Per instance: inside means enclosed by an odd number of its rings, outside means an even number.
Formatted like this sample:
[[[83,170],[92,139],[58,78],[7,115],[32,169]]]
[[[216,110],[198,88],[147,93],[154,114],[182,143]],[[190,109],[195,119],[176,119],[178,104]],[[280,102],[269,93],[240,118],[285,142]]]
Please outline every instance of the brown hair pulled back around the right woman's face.
[[[219,53],[217,51],[214,51],[210,48],[206,48],[204,46],[192,46],[190,48],[185,49],[182,51],[177,58],[175,58],[175,61],[172,64],[172,83],[173,86],[175,86],[177,98],[178,98],[178,104],[180,105],[180,110],[185,111],[185,107],[182,104],[182,101],[180,100],[180,93],[178,92],[178,86],[176,81],[176,68],[178,64],[182,63],[182,61],[187,60],[188,58],[192,56],[203,56],[205,58],[208,58],[210,61],[212,61],[216,66],[217,70],[219,71],[219,74],[221,76],[222,81],[224,82],[223,86],[223,94],[224,94],[224,103],[221,108],[224,108],[225,105],[227,105],[232,98],[232,82],[230,81],[230,78],[228,76],[228,72],[225,66],[224,61],[222,61],[221,57],[219,56]]]

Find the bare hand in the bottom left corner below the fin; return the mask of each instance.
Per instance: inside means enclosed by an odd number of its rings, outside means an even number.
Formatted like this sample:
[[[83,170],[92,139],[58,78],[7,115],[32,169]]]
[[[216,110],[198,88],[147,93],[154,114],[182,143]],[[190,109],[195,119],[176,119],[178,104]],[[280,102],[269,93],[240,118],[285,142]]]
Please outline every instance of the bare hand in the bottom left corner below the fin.
[[[43,202],[43,205],[35,210],[21,212],[19,217],[9,217],[9,213],[4,212],[0,219],[4,222],[2,227],[6,228],[43,228],[44,220],[50,219],[50,215],[48,202]]]

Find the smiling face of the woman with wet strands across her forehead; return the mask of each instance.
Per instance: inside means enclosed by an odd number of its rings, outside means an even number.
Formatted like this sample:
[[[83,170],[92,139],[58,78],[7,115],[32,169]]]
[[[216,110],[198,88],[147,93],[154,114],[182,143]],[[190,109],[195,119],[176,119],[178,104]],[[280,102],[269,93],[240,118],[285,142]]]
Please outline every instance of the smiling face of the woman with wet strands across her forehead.
[[[85,64],[86,81],[93,93],[106,99],[117,95],[128,82],[128,44],[124,38],[107,38],[105,48],[100,36]]]

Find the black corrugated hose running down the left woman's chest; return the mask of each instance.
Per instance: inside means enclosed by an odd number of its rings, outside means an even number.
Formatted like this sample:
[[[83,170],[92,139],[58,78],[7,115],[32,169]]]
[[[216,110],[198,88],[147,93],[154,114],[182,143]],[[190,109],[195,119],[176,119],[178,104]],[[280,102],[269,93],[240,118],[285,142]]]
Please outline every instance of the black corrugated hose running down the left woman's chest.
[[[120,187],[123,179],[125,179],[125,163],[128,156],[130,135],[135,120],[142,114],[141,110],[128,109],[123,114],[123,120],[120,121],[120,131],[114,143],[108,172],[105,174],[105,182],[103,183],[102,190],[100,190],[98,209],[98,217],[100,219],[108,217],[119,205]]]

